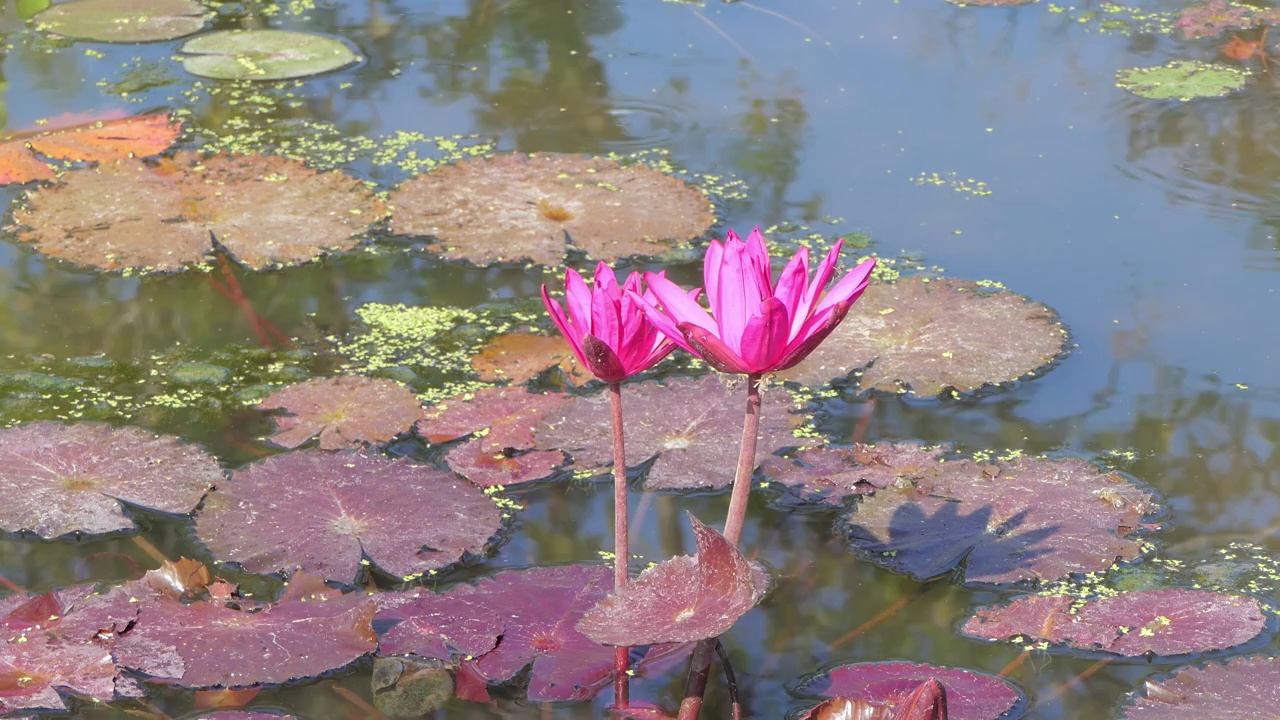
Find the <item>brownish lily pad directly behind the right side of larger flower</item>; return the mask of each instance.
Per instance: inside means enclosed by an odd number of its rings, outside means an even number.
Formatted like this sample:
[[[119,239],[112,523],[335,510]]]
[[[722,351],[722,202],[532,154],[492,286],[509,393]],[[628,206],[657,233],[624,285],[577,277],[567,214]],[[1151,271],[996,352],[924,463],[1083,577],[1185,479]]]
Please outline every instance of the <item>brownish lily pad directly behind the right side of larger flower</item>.
[[[820,386],[856,370],[863,389],[929,397],[1024,378],[1065,347],[1066,331],[1039,302],[910,277],[868,288],[809,357],[778,377]]]

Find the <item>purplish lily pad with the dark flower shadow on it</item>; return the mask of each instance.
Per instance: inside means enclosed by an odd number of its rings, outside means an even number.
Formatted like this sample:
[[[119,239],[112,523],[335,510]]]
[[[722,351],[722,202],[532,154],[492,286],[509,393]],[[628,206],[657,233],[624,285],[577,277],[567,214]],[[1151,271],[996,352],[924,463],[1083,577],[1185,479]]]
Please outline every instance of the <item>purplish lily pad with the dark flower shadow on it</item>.
[[[928,579],[963,565],[965,582],[1012,583],[1138,557],[1130,536],[1156,509],[1083,460],[947,460],[865,497],[846,521],[852,547],[891,570]]]

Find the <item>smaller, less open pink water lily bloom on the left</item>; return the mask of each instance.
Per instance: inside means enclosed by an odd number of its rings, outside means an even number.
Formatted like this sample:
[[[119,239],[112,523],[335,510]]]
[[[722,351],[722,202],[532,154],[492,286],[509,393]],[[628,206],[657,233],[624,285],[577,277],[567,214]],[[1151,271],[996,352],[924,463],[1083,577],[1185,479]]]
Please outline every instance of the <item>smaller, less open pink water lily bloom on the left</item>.
[[[666,281],[662,273],[649,274]],[[652,368],[676,348],[645,318],[643,299],[652,302],[653,293],[646,290],[641,296],[640,282],[640,273],[632,273],[618,288],[613,269],[600,263],[595,266],[595,284],[588,288],[582,275],[570,269],[564,273],[567,318],[559,302],[552,300],[547,286],[543,286],[543,304],[573,348],[573,355],[607,383],[622,382]],[[695,297],[692,295],[686,300],[692,302]]]

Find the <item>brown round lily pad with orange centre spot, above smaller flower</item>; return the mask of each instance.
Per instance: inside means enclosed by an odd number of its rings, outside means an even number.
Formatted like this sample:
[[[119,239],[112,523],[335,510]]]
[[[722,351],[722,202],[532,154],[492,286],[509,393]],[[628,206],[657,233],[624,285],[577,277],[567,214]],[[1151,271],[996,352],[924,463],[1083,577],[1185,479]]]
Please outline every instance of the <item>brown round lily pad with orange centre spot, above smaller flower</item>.
[[[660,255],[716,222],[708,197],[678,178],[581,155],[463,160],[406,182],[390,200],[393,232],[433,236],[445,256],[477,265],[558,265],[566,234],[596,260]]]

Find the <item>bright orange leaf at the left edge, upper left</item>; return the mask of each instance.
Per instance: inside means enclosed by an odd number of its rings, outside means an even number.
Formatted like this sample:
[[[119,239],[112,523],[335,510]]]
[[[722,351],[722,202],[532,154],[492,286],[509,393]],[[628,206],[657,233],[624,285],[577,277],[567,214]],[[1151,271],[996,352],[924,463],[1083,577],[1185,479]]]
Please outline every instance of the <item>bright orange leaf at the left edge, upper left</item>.
[[[79,163],[145,158],[169,147],[180,133],[182,123],[159,113],[10,135],[0,138],[0,184],[54,179],[54,169],[37,152]]]

